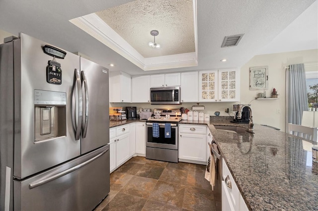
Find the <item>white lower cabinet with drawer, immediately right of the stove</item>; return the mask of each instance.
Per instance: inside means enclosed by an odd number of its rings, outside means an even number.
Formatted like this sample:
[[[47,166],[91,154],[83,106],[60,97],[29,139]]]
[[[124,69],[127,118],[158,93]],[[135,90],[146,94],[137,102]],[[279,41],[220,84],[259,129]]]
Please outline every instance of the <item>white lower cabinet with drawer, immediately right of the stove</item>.
[[[206,126],[179,124],[179,159],[207,161]]]

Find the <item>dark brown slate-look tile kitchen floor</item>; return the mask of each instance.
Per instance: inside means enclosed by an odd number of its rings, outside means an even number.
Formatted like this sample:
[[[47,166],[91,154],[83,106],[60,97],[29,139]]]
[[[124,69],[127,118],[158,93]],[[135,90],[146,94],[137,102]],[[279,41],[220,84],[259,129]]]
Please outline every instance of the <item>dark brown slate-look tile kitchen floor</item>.
[[[110,174],[95,211],[214,211],[205,165],[134,157]]]

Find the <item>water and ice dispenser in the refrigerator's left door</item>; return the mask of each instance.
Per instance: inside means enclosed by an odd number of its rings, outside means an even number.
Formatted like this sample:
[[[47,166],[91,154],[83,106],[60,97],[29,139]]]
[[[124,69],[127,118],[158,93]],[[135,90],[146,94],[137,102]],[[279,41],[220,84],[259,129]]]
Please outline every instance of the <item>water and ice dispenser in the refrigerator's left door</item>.
[[[66,93],[34,90],[34,143],[66,136]]]

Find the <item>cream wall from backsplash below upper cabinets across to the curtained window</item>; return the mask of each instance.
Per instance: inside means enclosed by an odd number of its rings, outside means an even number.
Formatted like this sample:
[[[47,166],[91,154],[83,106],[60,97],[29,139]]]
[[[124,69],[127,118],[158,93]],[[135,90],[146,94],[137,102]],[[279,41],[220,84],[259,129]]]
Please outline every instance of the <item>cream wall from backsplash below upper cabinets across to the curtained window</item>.
[[[285,131],[285,66],[289,64],[305,63],[306,71],[318,70],[318,50],[298,51],[289,53],[274,53],[256,55],[250,59],[240,69],[240,102],[232,103],[200,103],[205,106],[204,113],[214,115],[215,111],[220,111],[221,116],[228,116],[224,110],[230,109],[230,115],[234,116],[234,104],[251,104],[253,120],[257,124],[266,124],[280,128]],[[254,100],[257,93],[263,91],[249,90],[249,67],[268,66],[269,71],[269,89],[266,90],[266,96],[270,97],[272,89],[278,91],[278,100]],[[192,109],[196,103],[183,103],[182,105],[150,105],[150,104],[120,104],[112,103],[110,107],[136,106],[139,108],[180,108]],[[281,110],[277,114],[277,109]]]

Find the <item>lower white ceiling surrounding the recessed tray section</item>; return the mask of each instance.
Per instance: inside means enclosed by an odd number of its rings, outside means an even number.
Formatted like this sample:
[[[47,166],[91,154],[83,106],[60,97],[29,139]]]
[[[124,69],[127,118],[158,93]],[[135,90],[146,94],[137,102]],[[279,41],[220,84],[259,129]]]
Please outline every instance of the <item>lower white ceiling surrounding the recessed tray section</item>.
[[[198,66],[144,71],[70,22],[128,2],[132,0],[0,0],[0,30],[15,36],[24,32],[131,75],[240,68],[263,53],[318,51],[318,0],[197,0]],[[221,48],[225,36],[240,33],[238,46]],[[220,62],[223,58],[227,62]]]

